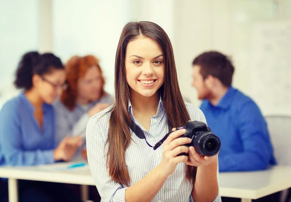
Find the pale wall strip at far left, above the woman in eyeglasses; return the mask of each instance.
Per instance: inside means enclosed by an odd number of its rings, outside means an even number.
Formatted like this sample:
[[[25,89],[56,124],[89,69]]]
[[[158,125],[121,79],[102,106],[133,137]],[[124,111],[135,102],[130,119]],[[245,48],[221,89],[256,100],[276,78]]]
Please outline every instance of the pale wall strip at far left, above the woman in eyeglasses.
[[[38,0],[0,0],[0,108],[18,91],[13,85],[20,57],[39,48]]]

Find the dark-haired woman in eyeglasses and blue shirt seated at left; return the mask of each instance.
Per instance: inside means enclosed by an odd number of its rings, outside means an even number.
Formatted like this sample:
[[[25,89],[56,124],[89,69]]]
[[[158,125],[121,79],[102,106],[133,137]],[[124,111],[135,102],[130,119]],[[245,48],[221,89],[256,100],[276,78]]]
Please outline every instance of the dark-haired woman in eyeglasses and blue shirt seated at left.
[[[16,70],[23,91],[0,111],[0,166],[34,166],[68,161],[81,141],[65,138],[55,147],[53,101],[65,88],[65,69],[52,53],[27,52]],[[0,180],[0,202],[8,202],[7,179]],[[20,202],[80,202],[56,183],[19,180]],[[66,193],[67,192],[67,193]]]

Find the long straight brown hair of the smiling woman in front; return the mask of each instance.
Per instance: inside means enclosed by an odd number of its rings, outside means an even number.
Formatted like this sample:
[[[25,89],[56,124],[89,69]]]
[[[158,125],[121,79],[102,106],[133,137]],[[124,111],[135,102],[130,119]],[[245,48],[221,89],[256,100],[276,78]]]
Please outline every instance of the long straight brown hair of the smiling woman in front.
[[[109,175],[113,181],[127,186],[130,184],[130,177],[125,161],[125,151],[129,147],[131,140],[128,123],[131,123],[132,120],[128,109],[129,85],[125,82],[125,55],[128,43],[140,35],[153,39],[162,48],[165,58],[165,73],[164,84],[162,84],[159,90],[170,125],[177,128],[185,125],[190,120],[179,89],[174,53],[169,37],[159,25],[153,22],[129,22],[121,33],[116,51],[115,105],[110,117],[107,139],[107,166],[109,167]],[[177,114],[179,114],[178,117]],[[194,180],[195,174],[196,167],[187,166],[186,178]]]

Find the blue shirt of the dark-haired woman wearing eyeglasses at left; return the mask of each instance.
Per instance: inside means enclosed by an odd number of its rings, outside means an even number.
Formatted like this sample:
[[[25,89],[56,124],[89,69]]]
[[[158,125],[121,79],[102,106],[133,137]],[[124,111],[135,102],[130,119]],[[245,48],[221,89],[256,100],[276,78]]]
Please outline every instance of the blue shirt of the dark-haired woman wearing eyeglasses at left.
[[[0,166],[31,166],[54,162],[54,111],[43,104],[43,128],[34,118],[34,107],[21,93],[0,111]]]

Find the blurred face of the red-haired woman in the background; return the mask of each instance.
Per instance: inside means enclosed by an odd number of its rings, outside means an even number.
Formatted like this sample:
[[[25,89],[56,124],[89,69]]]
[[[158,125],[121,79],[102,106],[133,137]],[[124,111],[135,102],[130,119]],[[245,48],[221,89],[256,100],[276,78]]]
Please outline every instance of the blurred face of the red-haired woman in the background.
[[[88,68],[85,75],[78,80],[78,100],[82,102],[97,101],[101,97],[103,79],[96,66]]]

